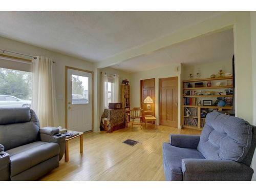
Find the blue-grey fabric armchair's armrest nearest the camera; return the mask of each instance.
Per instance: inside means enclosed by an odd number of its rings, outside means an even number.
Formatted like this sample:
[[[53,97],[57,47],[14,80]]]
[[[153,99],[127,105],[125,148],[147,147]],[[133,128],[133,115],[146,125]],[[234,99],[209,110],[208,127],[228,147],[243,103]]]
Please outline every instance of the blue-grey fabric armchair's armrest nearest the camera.
[[[231,160],[182,159],[184,181],[250,181],[253,169]]]

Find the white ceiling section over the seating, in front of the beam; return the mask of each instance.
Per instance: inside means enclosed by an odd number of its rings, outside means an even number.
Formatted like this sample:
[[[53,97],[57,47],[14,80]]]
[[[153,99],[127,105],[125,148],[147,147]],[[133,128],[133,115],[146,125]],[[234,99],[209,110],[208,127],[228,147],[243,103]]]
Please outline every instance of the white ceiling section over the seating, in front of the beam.
[[[222,13],[1,11],[0,36],[97,62]]]

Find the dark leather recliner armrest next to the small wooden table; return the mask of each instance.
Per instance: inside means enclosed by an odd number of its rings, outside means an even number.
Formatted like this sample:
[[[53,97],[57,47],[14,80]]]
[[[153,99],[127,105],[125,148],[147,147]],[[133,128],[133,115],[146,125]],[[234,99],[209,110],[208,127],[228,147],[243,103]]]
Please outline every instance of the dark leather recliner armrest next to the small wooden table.
[[[40,139],[45,142],[53,142],[59,144],[59,160],[62,159],[66,148],[66,136],[59,133],[59,129],[55,127],[43,127],[40,129]]]

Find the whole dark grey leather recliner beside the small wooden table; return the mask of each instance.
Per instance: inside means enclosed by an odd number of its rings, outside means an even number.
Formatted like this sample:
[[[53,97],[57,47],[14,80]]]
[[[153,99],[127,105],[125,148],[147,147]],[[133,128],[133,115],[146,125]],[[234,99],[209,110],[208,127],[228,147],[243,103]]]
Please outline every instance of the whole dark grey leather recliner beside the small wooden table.
[[[58,167],[65,138],[55,127],[39,129],[29,108],[0,108],[0,180],[36,180]]]

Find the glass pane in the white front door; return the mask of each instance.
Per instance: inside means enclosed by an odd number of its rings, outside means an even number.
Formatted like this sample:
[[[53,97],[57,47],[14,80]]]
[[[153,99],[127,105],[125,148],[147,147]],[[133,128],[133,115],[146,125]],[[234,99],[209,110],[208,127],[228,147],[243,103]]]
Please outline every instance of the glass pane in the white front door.
[[[88,104],[89,90],[88,77],[73,75],[72,78],[72,104]]]

